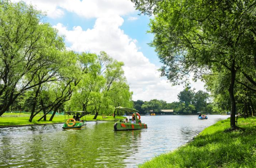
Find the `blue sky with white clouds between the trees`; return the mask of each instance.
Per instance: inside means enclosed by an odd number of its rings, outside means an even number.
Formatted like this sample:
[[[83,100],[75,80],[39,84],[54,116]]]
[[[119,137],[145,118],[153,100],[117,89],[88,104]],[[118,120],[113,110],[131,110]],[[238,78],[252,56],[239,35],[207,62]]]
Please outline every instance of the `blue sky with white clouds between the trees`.
[[[20,0],[12,0],[18,2]],[[183,85],[172,86],[160,77],[157,53],[149,47],[154,35],[149,30],[149,16],[138,15],[129,0],[23,0],[46,14],[44,22],[64,35],[68,49],[76,52],[100,51],[124,62],[124,73],[133,91],[133,100],[178,101]],[[196,91],[204,83],[193,82]],[[204,90],[205,91],[205,90]]]

